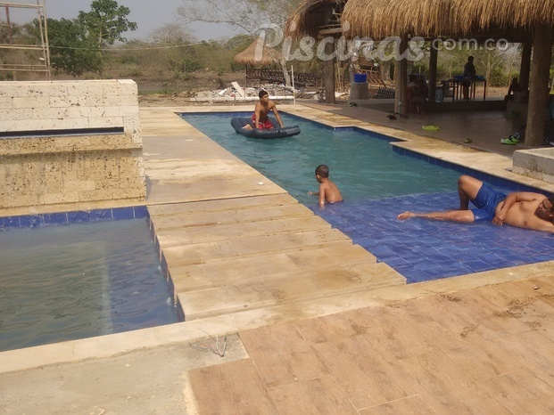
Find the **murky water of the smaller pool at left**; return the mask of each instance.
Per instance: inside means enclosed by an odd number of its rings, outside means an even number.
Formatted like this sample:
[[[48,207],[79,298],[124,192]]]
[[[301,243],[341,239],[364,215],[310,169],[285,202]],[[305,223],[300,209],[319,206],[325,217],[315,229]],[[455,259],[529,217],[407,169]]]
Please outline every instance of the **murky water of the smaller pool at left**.
[[[0,351],[178,321],[145,218],[0,232]]]

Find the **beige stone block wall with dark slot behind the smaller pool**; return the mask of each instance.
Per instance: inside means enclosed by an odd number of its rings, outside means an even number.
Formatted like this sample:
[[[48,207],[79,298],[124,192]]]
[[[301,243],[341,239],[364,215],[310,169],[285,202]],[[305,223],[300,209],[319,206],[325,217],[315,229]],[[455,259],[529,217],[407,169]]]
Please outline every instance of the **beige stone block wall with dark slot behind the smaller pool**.
[[[145,200],[132,80],[0,82],[0,209]]]

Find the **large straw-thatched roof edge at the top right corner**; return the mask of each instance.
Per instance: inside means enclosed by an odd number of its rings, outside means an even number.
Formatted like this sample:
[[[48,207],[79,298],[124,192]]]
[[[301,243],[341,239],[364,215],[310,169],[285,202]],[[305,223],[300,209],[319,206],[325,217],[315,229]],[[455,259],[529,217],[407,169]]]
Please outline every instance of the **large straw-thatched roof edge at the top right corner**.
[[[554,25],[554,0],[349,0],[342,24],[351,36],[521,38],[537,22]]]

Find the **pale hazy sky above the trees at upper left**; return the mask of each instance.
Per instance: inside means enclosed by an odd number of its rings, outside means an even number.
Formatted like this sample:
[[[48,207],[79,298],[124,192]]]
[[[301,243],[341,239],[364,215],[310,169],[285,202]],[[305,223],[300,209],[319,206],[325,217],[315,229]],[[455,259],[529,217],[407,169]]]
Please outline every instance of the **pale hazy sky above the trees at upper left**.
[[[43,0],[46,6],[46,17],[50,19],[75,19],[79,11],[89,12],[93,0]],[[161,28],[166,23],[178,23],[177,8],[182,5],[181,0],[116,0],[119,5],[128,7],[131,11],[128,15],[129,21],[136,22],[138,26],[135,31],[123,35],[128,40],[140,39],[149,40],[148,37],[156,28]],[[202,0],[201,0],[202,1]],[[37,4],[36,0],[11,0],[9,3]],[[29,10],[10,8],[10,16],[13,21],[24,19],[29,16]],[[36,12],[30,20],[36,18]],[[0,13],[0,19],[4,18],[4,12]],[[28,18],[29,19],[29,18]],[[233,31],[227,25],[216,23],[195,22],[187,25],[186,29],[198,40],[212,40],[224,37],[232,37],[239,32]]]

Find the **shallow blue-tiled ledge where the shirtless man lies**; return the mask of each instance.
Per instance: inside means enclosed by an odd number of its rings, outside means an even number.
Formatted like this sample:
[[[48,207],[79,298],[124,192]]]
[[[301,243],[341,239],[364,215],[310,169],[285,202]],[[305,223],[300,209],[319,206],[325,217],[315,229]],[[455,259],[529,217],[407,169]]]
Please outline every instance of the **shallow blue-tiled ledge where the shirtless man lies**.
[[[417,207],[417,208],[414,208]],[[510,226],[396,219],[404,210],[459,208],[458,193],[434,193],[313,208],[408,282],[554,259],[554,236]]]

